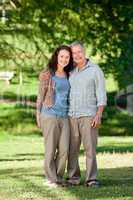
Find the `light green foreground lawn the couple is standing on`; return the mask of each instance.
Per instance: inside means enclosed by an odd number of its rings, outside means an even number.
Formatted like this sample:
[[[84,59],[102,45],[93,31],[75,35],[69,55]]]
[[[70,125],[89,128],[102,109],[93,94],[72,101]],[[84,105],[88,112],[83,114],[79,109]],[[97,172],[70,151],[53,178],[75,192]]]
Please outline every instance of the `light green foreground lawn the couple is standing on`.
[[[0,200],[132,200],[133,151],[127,151],[130,146],[133,146],[132,137],[99,138],[97,160],[101,188],[83,185],[85,158],[81,147],[82,185],[50,189],[43,186],[43,138],[1,134]]]

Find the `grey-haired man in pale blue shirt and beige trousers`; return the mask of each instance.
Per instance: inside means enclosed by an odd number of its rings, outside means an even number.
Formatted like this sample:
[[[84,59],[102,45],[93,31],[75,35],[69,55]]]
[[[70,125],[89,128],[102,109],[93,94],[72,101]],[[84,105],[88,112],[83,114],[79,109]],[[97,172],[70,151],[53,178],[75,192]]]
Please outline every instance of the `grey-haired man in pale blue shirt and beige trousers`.
[[[86,154],[86,186],[99,186],[96,144],[107,100],[104,75],[98,65],[86,58],[85,49],[80,42],[74,42],[71,49],[76,68],[70,76],[68,182],[72,185],[80,184],[78,157],[82,141]]]

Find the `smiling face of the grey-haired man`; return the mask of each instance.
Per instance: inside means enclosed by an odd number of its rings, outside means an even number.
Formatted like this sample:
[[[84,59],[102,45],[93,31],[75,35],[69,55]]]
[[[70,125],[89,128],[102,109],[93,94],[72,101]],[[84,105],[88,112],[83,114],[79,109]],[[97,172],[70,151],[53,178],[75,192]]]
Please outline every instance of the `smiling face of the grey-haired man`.
[[[82,64],[85,61],[85,51],[80,45],[72,46],[73,60],[76,64]]]

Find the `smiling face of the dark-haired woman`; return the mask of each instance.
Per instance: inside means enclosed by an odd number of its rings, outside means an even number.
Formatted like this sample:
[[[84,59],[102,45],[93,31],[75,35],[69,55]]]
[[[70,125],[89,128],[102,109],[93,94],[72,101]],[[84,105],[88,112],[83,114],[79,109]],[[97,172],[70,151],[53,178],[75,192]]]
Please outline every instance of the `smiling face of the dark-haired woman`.
[[[70,53],[69,51],[62,49],[59,51],[58,53],[58,58],[57,58],[57,62],[58,65],[60,65],[60,67],[66,67],[69,63],[70,60]]]

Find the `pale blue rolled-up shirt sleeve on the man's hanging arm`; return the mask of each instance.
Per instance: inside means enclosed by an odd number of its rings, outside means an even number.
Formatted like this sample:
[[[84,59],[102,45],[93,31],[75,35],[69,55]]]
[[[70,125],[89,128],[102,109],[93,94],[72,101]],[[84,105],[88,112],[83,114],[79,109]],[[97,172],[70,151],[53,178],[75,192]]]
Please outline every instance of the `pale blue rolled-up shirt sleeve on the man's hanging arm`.
[[[99,66],[96,67],[95,71],[95,85],[96,85],[97,107],[107,105],[105,78],[103,71],[100,69]]]

